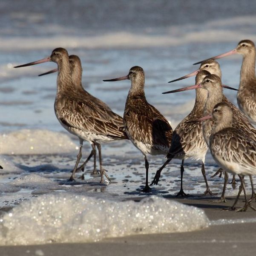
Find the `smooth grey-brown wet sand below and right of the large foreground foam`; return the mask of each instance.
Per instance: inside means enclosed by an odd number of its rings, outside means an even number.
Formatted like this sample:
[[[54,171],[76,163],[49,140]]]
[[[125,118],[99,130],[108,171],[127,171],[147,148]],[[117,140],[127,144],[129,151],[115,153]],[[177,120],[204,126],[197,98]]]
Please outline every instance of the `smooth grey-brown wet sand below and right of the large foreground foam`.
[[[141,198],[140,198],[141,199]],[[171,197],[170,200],[173,200]],[[236,213],[222,210],[233,204],[233,197],[226,203],[216,203],[217,197],[175,198],[184,204],[199,207],[205,211],[212,221],[218,219],[256,218],[256,213]],[[238,206],[244,202],[239,200]],[[253,203],[255,206],[256,203]],[[204,230],[187,233],[151,234],[104,239],[101,242],[83,244],[44,244],[31,246],[0,247],[1,256],[129,256],[129,255],[254,255],[256,240],[256,222],[225,225],[210,225]]]

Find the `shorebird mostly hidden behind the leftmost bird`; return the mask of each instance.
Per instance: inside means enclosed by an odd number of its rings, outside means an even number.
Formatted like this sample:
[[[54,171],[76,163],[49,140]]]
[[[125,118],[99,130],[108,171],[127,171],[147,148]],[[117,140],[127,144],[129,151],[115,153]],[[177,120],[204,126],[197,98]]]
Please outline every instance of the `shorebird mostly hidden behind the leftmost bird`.
[[[81,60],[77,55],[69,55],[69,68],[70,68],[70,72],[71,72],[71,77],[72,77],[72,82],[74,84],[74,86],[76,87],[76,89],[78,90],[78,92],[83,95],[84,98],[88,99],[88,101],[92,101],[95,104],[102,106],[103,108],[108,109],[109,111],[112,111],[109,106],[107,104],[105,104],[103,101],[101,101],[100,99],[94,97],[93,95],[91,95],[89,92],[87,92],[85,89],[83,89],[82,86],[82,64],[81,64]],[[48,75],[54,72],[57,72],[58,69],[52,69],[46,73],[40,74],[38,76],[42,76],[42,75]],[[122,120],[120,120],[121,124],[123,123]],[[87,162],[90,160],[90,158],[94,157],[94,167],[93,167],[93,171],[92,171],[92,175],[97,174],[97,170],[96,170],[96,144],[94,142],[92,142],[91,144],[92,146],[92,151],[89,154],[88,158],[86,159],[86,161],[77,168],[76,171],[78,170],[82,170],[84,171],[84,167],[87,164]]]

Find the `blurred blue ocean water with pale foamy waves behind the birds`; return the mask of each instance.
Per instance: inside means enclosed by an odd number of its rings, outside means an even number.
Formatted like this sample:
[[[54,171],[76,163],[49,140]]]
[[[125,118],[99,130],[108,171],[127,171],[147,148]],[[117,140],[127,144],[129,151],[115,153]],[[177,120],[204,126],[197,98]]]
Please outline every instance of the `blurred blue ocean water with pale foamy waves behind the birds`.
[[[146,75],[147,100],[175,128],[193,108],[195,92],[172,95],[161,92],[192,85],[194,78],[167,82],[196,70],[198,66],[192,63],[235,48],[242,39],[256,41],[255,24],[256,2],[249,0],[1,0],[2,185],[31,172],[60,182],[58,178],[69,177],[78,152],[78,140],[69,135],[55,117],[57,75],[37,76],[56,68],[56,64],[43,63],[20,69],[13,66],[44,58],[56,47],[64,47],[70,55],[81,58],[85,89],[120,115],[123,115],[130,81],[104,83],[102,80],[127,75],[130,67],[141,66]],[[223,83],[238,88],[242,57],[230,56],[219,63]],[[225,90],[224,93],[236,104],[235,91]],[[85,158],[89,144],[85,142],[84,146]],[[143,185],[143,157],[129,142],[104,144],[103,156],[106,169],[114,173],[117,183],[121,184],[115,190],[116,195]],[[152,159],[153,177],[164,156]],[[167,168],[170,175],[163,180],[166,182],[163,183],[164,193],[178,192],[180,161],[174,163]],[[204,181],[200,163],[187,163],[184,187],[187,185],[189,192],[202,193]],[[209,155],[206,164],[211,170],[209,177],[217,166]],[[88,168],[92,170],[92,161]],[[31,195],[33,189],[37,189],[36,194],[45,193],[47,185],[40,189],[37,186],[45,180],[40,180],[39,176],[28,179],[33,185],[26,183],[19,193]],[[217,178],[210,184],[220,191],[222,182]],[[0,190],[1,205],[14,204],[21,198],[21,194],[9,193],[13,191],[10,186],[2,186]],[[111,191],[109,195],[113,193],[111,186],[115,183],[107,186]],[[8,196],[10,198],[6,199]]]

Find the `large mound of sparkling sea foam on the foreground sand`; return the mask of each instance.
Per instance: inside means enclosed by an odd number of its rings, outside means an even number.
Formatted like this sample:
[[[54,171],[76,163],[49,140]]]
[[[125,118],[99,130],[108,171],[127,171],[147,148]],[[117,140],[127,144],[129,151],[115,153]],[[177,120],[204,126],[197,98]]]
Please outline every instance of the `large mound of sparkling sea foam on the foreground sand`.
[[[93,242],[107,237],[205,228],[203,210],[151,196],[140,202],[58,193],[42,195],[0,218],[0,244]]]

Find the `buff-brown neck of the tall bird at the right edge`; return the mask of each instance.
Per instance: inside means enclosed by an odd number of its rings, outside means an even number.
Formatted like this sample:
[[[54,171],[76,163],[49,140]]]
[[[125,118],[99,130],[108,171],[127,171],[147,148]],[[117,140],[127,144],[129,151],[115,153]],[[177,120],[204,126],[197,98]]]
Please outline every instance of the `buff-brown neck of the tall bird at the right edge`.
[[[255,80],[255,49],[247,55],[243,56],[243,63],[240,72],[240,86],[248,83],[248,80]]]

